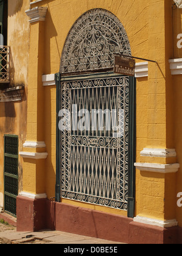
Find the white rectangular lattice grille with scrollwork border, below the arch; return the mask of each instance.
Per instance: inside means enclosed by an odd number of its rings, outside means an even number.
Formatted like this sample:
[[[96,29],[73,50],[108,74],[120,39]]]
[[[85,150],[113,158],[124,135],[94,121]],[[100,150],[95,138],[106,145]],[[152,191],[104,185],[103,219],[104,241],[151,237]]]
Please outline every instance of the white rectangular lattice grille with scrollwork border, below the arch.
[[[61,197],[127,210],[129,77],[83,79],[61,83],[61,107],[73,113],[87,109],[116,110],[120,136],[115,127],[61,132]],[[121,111],[123,119],[121,120]],[[79,121],[79,120],[78,120]],[[98,120],[97,120],[98,121]],[[121,129],[123,127],[123,129]]]

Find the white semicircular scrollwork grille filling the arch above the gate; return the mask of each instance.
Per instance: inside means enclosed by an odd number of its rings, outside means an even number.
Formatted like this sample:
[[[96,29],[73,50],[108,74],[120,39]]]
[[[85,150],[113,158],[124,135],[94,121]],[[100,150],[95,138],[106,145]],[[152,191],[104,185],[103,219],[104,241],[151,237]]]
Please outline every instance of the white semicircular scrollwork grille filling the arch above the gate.
[[[62,53],[60,72],[111,68],[113,54],[116,53],[131,55],[123,24],[107,10],[90,10],[70,30]]]

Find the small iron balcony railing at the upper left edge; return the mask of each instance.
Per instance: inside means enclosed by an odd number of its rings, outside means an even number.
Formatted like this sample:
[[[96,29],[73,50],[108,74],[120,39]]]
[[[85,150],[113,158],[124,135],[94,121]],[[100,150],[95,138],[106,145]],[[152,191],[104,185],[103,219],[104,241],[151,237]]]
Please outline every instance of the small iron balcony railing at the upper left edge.
[[[0,83],[10,82],[10,47],[0,46]]]

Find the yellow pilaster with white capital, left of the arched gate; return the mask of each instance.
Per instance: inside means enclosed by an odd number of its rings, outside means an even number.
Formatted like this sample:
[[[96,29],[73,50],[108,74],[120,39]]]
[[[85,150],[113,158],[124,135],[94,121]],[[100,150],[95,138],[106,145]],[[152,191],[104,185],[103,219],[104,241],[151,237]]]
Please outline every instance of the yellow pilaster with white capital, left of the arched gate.
[[[30,20],[29,86],[27,96],[27,141],[19,155],[24,158],[23,191],[25,195],[45,197],[44,166],[47,158],[44,143],[44,21],[47,7],[25,12]]]

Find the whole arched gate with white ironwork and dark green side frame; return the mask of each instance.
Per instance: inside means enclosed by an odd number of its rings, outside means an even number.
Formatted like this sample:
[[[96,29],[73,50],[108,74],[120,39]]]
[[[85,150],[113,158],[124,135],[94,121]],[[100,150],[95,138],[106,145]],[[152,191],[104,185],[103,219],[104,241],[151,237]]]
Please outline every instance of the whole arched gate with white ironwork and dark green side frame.
[[[133,217],[135,79],[113,73],[117,53],[131,55],[130,44],[107,10],[84,13],[69,32],[56,74],[56,201],[127,210]]]

